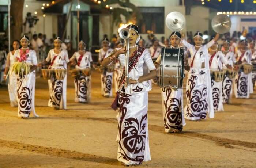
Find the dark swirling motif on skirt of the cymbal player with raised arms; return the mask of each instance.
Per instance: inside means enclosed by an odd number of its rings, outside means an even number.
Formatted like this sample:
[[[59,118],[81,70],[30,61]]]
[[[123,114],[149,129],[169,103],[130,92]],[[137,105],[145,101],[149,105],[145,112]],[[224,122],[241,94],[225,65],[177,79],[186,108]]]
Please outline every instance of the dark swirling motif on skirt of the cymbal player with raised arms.
[[[197,76],[191,75],[188,80],[189,89],[186,91],[186,95],[189,98],[187,114],[189,117],[206,118],[207,110],[207,88],[204,87],[201,91],[194,89],[196,86],[195,80]]]

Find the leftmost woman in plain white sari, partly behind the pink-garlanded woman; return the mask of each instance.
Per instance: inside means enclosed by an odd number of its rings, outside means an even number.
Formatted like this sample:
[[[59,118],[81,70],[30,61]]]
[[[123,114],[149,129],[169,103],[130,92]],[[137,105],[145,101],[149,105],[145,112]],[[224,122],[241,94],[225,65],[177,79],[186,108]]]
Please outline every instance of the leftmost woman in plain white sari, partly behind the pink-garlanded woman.
[[[13,50],[10,51],[7,54],[7,58],[6,58],[6,65],[5,65],[5,70],[4,70],[4,80],[6,80],[6,75],[9,71],[10,67],[16,61],[16,59],[14,57],[14,53],[20,47],[19,41],[14,40],[12,42],[12,47],[13,47]],[[10,73],[9,74],[8,92],[9,92],[11,107],[17,107],[18,106],[18,101],[17,101],[17,98],[18,98],[18,96],[17,96],[17,75],[15,73]]]

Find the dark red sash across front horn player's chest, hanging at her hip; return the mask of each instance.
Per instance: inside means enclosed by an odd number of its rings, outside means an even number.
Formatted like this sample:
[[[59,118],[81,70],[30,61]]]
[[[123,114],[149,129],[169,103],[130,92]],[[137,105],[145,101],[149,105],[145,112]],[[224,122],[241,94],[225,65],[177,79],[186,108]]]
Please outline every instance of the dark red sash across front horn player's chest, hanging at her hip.
[[[132,57],[129,58],[129,67],[128,67],[128,72],[131,72],[132,68],[135,66],[135,64],[138,62],[140,56],[142,55],[143,51],[145,50],[145,48],[143,47],[138,47],[138,52],[134,51],[132,54]],[[138,54],[137,54],[138,53]],[[139,54],[140,53],[140,54]],[[125,67],[124,67],[125,69]],[[121,76],[121,80],[119,82],[119,86],[118,88],[124,84],[126,80],[126,76],[125,76],[125,70],[123,70],[123,74]],[[118,104],[118,98],[119,98],[119,92],[116,93],[116,98],[114,99],[114,102],[111,105],[111,108],[113,108],[114,110],[117,109],[117,104]]]

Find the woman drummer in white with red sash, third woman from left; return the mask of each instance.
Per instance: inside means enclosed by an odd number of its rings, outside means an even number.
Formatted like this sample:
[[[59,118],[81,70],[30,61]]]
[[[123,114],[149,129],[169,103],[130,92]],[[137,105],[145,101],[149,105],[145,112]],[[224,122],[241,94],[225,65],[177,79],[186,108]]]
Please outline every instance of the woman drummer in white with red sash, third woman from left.
[[[46,65],[50,62],[48,69],[67,69],[69,63],[67,50],[61,49],[61,39],[57,37],[54,39],[54,49],[51,49],[48,53],[45,61],[40,63]],[[67,74],[63,80],[57,80],[53,75],[52,79],[48,80],[50,99],[48,101],[49,107],[55,109],[67,108]]]

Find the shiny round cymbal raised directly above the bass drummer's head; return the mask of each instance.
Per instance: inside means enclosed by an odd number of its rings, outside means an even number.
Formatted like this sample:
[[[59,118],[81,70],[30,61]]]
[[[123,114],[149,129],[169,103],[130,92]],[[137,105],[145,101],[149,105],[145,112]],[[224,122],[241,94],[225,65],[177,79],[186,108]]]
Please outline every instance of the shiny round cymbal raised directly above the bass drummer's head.
[[[180,12],[171,12],[166,16],[165,23],[170,30],[181,31],[186,25],[186,20]]]

